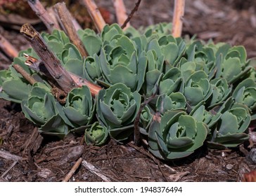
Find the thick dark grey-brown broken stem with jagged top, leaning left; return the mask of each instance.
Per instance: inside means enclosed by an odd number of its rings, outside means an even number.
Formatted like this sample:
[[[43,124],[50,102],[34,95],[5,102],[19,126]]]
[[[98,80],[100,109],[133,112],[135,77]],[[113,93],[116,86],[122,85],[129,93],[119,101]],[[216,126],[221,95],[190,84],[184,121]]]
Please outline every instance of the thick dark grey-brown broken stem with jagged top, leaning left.
[[[78,87],[77,83],[71,78],[68,71],[61,66],[60,60],[56,55],[47,47],[44,39],[41,37],[32,25],[24,24],[20,32],[27,38],[32,45],[32,48],[37,52],[37,55],[44,62],[44,66],[49,71],[51,76],[56,80],[60,88],[68,93],[74,87]]]

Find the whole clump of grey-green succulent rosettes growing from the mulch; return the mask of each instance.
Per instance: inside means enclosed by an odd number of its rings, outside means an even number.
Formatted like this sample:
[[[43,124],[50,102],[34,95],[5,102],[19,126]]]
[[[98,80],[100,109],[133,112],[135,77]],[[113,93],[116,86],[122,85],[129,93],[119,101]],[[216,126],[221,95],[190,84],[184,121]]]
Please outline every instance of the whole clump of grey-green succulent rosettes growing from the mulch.
[[[63,31],[42,36],[63,67],[101,85],[92,97],[87,86],[74,88],[65,104],[51,94],[47,79],[25,65],[23,53],[13,64],[30,73],[30,85],[10,66],[0,71],[0,97],[20,103],[26,118],[42,134],[84,134],[101,146],[109,137],[131,139],[134,121],[148,138],[148,149],[162,160],[191,155],[207,143],[236,147],[248,139],[255,120],[255,68],[243,46],[174,38],[172,24],[136,30],[106,25],[101,34],[79,30],[88,57],[82,57]],[[141,108],[141,104],[147,104]]]

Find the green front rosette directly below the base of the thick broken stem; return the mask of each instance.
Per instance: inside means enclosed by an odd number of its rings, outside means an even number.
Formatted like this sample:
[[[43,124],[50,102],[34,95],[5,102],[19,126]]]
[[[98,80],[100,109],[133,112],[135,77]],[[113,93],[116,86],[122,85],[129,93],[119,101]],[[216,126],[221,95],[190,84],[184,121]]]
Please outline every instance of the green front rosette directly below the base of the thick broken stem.
[[[63,112],[68,124],[73,128],[82,129],[94,118],[95,104],[87,86],[77,87],[68,93]],[[77,130],[75,130],[77,131]]]

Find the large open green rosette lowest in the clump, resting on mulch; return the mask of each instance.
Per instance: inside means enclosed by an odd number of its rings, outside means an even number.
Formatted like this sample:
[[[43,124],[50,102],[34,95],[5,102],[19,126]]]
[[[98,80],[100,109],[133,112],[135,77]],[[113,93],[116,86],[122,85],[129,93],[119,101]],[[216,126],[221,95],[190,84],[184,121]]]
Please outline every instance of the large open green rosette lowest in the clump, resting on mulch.
[[[191,155],[203,146],[207,127],[184,111],[167,111],[148,131],[149,151],[162,160]]]

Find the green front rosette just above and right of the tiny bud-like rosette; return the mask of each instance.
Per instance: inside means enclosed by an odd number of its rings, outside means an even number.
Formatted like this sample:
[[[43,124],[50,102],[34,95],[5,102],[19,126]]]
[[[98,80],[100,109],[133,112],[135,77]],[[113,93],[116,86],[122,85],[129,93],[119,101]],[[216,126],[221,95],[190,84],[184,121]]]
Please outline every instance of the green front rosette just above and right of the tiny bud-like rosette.
[[[140,104],[141,95],[138,92],[117,83],[98,93],[97,116],[101,124],[108,128],[110,136],[122,141],[132,134],[131,128]]]

